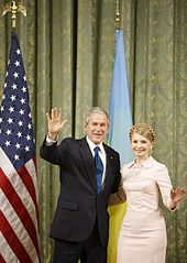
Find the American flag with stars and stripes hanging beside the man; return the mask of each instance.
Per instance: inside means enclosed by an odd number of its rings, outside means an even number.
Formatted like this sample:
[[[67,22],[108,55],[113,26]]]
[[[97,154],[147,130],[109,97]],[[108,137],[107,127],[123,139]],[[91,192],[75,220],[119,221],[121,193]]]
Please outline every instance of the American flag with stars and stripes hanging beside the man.
[[[34,132],[14,31],[0,107],[0,262],[40,262]]]

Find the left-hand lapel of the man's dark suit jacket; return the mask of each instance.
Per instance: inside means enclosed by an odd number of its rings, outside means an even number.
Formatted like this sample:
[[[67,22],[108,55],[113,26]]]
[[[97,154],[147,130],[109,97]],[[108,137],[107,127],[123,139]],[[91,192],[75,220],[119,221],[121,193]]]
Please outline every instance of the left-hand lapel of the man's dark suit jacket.
[[[82,163],[85,165],[86,174],[90,180],[95,190],[97,190],[96,184],[96,169],[95,169],[95,160],[89,149],[89,145],[86,141],[86,138],[80,140],[80,154],[82,157]]]

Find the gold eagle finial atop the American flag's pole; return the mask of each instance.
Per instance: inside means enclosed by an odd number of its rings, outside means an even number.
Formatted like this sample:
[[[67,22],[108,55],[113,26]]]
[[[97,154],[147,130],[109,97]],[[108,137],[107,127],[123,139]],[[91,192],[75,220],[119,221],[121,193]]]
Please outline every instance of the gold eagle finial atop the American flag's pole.
[[[16,13],[18,12],[21,12],[21,13],[23,13],[24,17],[26,17],[26,9],[23,6],[23,3],[21,3],[21,2],[18,2],[18,6],[16,6],[15,1],[6,3],[6,6],[3,7],[2,17],[6,15],[8,12],[12,13],[12,28],[13,29],[15,29],[15,25],[16,25]]]

